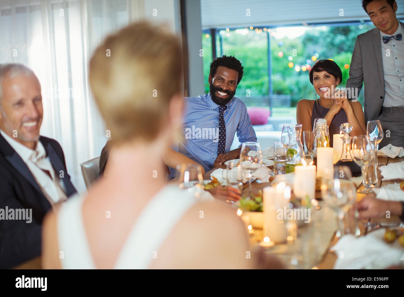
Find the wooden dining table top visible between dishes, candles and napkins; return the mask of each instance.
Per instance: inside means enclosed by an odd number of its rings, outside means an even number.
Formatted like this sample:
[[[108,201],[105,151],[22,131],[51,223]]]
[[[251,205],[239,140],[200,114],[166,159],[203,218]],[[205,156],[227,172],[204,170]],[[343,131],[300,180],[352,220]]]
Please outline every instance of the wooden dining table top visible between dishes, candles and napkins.
[[[380,164],[387,165],[396,162],[404,162],[404,157],[390,158],[388,156],[378,156],[378,161]],[[273,166],[268,166],[269,169],[272,169],[272,167]],[[206,172],[203,176],[204,180],[211,179],[211,173],[218,168],[225,169],[226,166],[223,164]],[[402,179],[383,181],[383,177],[379,169],[377,169],[377,175],[378,183],[376,187],[378,188],[392,183],[402,182]],[[357,190],[361,190],[364,187],[364,185],[361,183],[362,176],[353,178],[352,181],[356,183]],[[255,181],[251,185],[251,191],[253,194],[256,194],[259,192],[259,190],[271,185],[272,184],[269,181]],[[246,183],[243,186],[242,197],[248,196],[248,194],[249,187],[248,183]],[[376,198],[376,193],[357,193],[357,201],[360,201],[366,196]],[[265,253],[273,255],[282,261],[285,268],[332,269],[335,261],[337,260],[337,255],[332,250],[332,246],[334,246],[339,240],[336,232],[338,229],[338,224],[335,211],[330,209],[322,200],[320,191],[316,191],[315,197],[318,200],[318,206],[311,212],[311,221],[310,223],[303,223],[297,227],[297,237],[294,240],[288,240],[287,242],[281,244],[275,244],[274,246],[263,248]],[[231,204],[234,203],[227,202],[227,204],[232,206]],[[234,206],[237,207],[237,204],[234,204]],[[360,234],[356,234],[356,236],[366,236],[366,233],[370,231],[369,226],[372,226],[372,228],[384,228],[387,226],[398,226],[401,222],[398,216],[392,215],[389,219],[372,219],[370,223],[356,220],[356,223],[358,224],[357,229],[360,231]],[[355,233],[353,228],[351,228],[351,231]],[[261,248],[260,244],[263,240],[263,230],[259,228],[249,230],[249,236],[250,246],[256,249]]]

